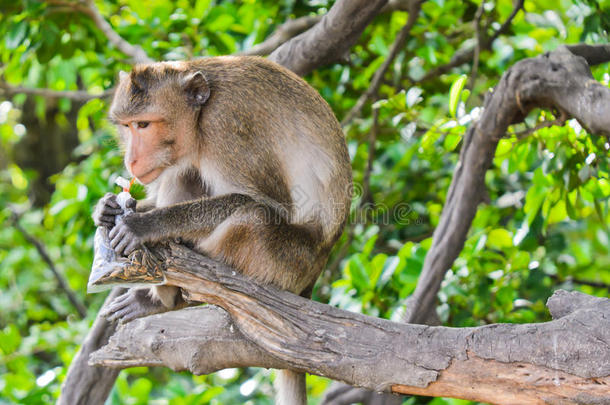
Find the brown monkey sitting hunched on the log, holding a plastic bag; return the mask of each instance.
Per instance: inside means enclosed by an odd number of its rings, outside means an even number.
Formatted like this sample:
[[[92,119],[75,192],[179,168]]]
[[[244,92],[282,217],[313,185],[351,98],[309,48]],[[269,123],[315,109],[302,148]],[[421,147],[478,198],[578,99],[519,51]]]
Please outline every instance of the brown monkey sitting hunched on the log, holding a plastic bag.
[[[147,191],[116,225],[113,194],[95,209],[118,254],[180,238],[256,282],[311,296],[347,221],[352,176],[341,126],[309,84],[252,56],[136,65],[120,73],[109,119]],[[176,287],[132,288],[104,315],[126,322],[185,305]],[[304,374],[277,380],[277,403],[306,403]]]

